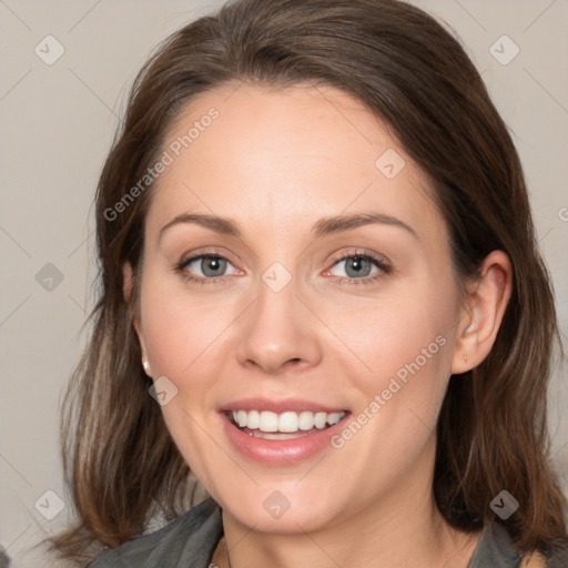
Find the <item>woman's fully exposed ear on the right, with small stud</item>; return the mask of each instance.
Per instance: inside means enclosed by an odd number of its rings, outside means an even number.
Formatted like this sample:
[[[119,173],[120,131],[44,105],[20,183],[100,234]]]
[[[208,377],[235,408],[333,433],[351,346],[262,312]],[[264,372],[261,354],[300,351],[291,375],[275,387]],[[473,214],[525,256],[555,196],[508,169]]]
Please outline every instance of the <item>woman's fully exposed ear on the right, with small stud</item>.
[[[488,254],[480,276],[466,285],[467,297],[460,313],[452,374],[479,365],[491,351],[513,292],[513,270],[503,251]]]

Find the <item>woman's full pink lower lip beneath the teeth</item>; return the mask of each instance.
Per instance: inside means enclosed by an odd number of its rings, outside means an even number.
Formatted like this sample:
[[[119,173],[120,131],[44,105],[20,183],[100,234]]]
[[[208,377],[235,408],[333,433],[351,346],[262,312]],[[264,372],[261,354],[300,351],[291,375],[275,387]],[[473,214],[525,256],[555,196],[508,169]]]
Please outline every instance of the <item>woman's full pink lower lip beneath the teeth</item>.
[[[244,457],[263,464],[288,465],[308,459],[331,446],[331,438],[345,426],[344,416],[323,430],[292,439],[264,439],[244,434],[233,425],[226,413],[220,413],[223,428],[234,448]]]

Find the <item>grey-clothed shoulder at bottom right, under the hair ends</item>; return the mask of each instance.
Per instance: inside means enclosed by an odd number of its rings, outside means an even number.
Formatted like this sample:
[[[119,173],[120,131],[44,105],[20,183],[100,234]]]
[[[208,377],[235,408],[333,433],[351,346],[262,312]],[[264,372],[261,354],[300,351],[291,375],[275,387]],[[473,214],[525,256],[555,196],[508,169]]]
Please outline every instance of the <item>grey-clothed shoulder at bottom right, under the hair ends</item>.
[[[541,562],[535,559],[535,568],[567,568],[568,549],[551,550]],[[493,523],[484,527],[479,542],[468,568],[523,568],[527,565],[507,530],[499,524]]]

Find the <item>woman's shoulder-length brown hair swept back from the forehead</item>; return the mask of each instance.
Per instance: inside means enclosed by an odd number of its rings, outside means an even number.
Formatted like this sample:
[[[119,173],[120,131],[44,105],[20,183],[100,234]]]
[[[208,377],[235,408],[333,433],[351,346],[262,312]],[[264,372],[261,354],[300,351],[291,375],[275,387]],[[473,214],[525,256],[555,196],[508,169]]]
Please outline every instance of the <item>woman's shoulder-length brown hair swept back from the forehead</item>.
[[[120,214],[109,211],[155,163],[182,106],[231,81],[328,84],[354,95],[429,178],[458,277],[475,275],[494,250],[508,254],[514,291],[496,343],[478,367],[449,383],[434,494],[453,526],[474,530],[503,523],[489,504],[507,489],[520,504],[505,523],[519,549],[565,545],[566,501],[546,429],[551,349],[559,345],[554,296],[521,164],[479,73],[443,26],[404,2],[241,0],[159,47],[134,82],[104,164],[97,194],[102,287],[62,418],[79,523],[52,548],[83,561],[101,545],[141,535],[154,514],[171,519],[187,506],[189,467],[141,368],[136,282],[129,303],[123,296],[123,264],[140,268],[151,187]]]

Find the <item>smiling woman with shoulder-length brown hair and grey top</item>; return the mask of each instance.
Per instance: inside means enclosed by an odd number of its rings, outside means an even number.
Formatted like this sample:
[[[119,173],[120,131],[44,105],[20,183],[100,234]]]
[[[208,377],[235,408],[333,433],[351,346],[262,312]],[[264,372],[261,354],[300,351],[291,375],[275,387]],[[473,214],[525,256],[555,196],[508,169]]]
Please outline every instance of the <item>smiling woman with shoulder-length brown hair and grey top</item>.
[[[568,566],[523,170],[434,19],[241,0],[186,26],[135,81],[97,217],[67,558]],[[190,470],[211,498],[183,513]]]

